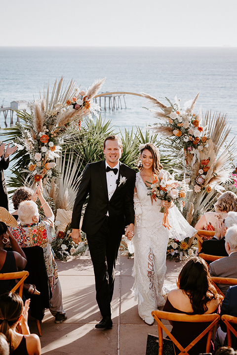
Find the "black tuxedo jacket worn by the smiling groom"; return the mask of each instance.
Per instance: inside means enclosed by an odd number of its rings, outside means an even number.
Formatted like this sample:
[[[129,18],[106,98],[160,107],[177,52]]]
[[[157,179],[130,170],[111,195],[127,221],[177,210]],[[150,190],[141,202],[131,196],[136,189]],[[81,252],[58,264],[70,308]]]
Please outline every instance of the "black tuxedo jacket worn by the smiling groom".
[[[126,178],[126,181],[118,186],[120,177]],[[124,234],[125,225],[134,223],[133,193],[135,180],[135,171],[120,163],[117,188],[109,201],[105,160],[87,164],[79,183],[71,227],[79,229],[81,210],[89,193],[82,223],[83,232],[90,235],[95,234],[102,226],[106,213],[109,211],[111,231],[120,235]]]

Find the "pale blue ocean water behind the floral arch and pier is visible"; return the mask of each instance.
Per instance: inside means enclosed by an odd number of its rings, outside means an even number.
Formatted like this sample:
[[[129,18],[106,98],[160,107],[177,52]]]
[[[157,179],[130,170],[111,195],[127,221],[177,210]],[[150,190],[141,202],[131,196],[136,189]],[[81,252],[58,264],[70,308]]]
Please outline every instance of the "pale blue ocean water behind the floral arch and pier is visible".
[[[62,75],[81,89],[106,77],[103,91],[145,92],[161,101],[177,95],[184,103],[200,91],[197,110],[226,113],[237,134],[237,48],[0,47],[0,105],[38,98]],[[143,108],[149,106],[145,99],[126,95],[126,109],[121,101],[122,108],[102,109],[117,129],[156,121]]]

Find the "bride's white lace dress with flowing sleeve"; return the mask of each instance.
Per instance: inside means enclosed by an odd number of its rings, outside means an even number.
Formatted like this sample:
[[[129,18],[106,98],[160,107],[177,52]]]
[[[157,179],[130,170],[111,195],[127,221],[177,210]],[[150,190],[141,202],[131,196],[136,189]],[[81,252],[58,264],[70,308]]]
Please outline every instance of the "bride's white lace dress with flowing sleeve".
[[[168,174],[168,173],[167,173]],[[166,272],[166,249],[169,238],[183,240],[191,237],[196,230],[190,226],[176,207],[169,210],[171,229],[162,226],[163,213],[160,213],[161,200],[151,201],[147,187],[140,173],[136,176],[134,207],[136,213],[134,246],[135,278],[132,291],[138,299],[138,313],[144,320],[165,301],[161,290]],[[129,246],[131,250],[131,245]]]

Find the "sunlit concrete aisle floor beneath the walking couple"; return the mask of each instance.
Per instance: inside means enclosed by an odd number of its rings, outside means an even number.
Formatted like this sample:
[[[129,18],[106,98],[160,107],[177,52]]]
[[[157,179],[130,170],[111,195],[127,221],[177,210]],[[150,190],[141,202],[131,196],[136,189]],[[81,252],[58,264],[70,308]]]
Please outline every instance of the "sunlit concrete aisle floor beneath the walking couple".
[[[137,302],[131,295],[133,259],[118,257],[115,292],[112,301],[112,329],[96,329],[100,312],[95,300],[94,275],[88,256],[57,261],[68,319],[55,324],[47,310],[41,324],[42,353],[50,355],[145,355],[147,334],[157,334],[157,324],[140,319]],[[184,262],[166,262],[166,284],[173,284]],[[30,324],[37,332],[35,324]],[[34,329],[33,329],[34,328]]]

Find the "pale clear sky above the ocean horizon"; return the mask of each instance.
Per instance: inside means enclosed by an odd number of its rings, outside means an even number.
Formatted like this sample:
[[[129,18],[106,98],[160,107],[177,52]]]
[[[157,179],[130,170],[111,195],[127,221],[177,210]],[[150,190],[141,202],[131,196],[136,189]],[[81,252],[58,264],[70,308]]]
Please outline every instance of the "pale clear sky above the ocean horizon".
[[[0,46],[237,47],[237,0],[0,0]]]

